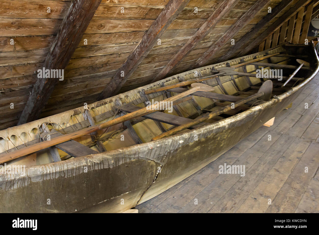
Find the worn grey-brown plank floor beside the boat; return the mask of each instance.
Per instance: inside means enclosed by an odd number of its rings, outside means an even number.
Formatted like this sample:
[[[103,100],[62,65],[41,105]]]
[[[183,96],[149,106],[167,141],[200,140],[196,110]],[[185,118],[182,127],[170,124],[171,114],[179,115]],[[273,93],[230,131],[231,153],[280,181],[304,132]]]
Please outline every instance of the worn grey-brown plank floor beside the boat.
[[[246,175],[219,174],[224,163],[245,165]],[[259,128],[216,161],[136,209],[139,213],[318,213],[318,166],[319,74],[273,126]]]

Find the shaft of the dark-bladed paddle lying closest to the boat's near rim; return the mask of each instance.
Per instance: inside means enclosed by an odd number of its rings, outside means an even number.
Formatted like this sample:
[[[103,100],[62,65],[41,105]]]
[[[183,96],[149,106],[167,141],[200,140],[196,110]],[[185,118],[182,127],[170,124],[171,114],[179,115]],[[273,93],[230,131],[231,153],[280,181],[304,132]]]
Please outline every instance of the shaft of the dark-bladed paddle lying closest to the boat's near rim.
[[[225,106],[223,108],[220,108],[219,110],[213,111],[211,113],[203,114],[201,117],[198,117],[198,118],[194,119],[193,122],[187,123],[187,124],[183,124],[183,125],[180,125],[178,127],[175,127],[174,129],[171,129],[171,130],[169,130],[169,131],[167,131],[165,133],[162,133],[162,134],[152,138],[152,140],[158,140],[158,139],[161,139],[161,138],[164,138],[164,137],[168,137],[168,136],[174,135],[177,132],[185,130],[185,129],[187,129],[187,128],[193,126],[193,125],[199,124],[199,123],[201,123],[203,121],[209,120],[209,119],[211,119],[211,118],[213,118],[213,117],[215,117],[217,115],[223,114],[223,113],[233,109],[234,107],[238,107],[240,105],[243,105],[243,104],[245,104],[245,103],[247,103],[247,102],[249,102],[249,101],[251,101],[253,99],[259,98],[261,96],[263,96],[263,93],[256,93],[256,94],[254,94],[252,96],[243,98],[240,101],[234,103],[234,106],[233,105],[227,105],[227,106]]]

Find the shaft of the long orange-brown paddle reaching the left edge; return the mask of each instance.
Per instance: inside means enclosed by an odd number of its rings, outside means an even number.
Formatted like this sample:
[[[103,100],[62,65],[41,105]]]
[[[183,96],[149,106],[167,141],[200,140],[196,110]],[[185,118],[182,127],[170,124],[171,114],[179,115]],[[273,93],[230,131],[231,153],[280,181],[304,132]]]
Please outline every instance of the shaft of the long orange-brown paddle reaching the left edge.
[[[78,137],[81,137],[84,135],[88,135],[94,131],[105,129],[105,128],[108,128],[110,126],[114,126],[116,124],[122,123],[124,121],[128,121],[128,120],[131,120],[133,118],[144,116],[145,114],[154,113],[154,112],[158,111],[160,104],[163,104],[163,103],[165,104],[165,102],[171,102],[171,101],[174,102],[180,98],[183,98],[185,96],[188,96],[188,95],[196,92],[197,89],[200,89],[200,87],[199,86],[194,87],[194,88],[189,89],[185,92],[182,92],[176,96],[172,96],[168,99],[165,99],[165,100],[159,102],[159,104],[153,104],[152,106],[147,106],[147,107],[141,108],[137,111],[134,111],[134,112],[129,113],[129,114],[125,114],[121,117],[115,118],[115,119],[110,120],[110,121],[106,121],[106,122],[101,123],[99,125],[87,127],[87,128],[84,128],[84,129],[81,129],[81,130],[78,130],[78,131],[75,131],[75,132],[72,132],[69,134],[65,134],[63,136],[52,138],[51,140],[46,140],[46,141],[43,141],[43,142],[40,142],[40,143],[37,143],[34,145],[30,145],[30,146],[21,148],[19,150],[13,151],[11,153],[7,153],[4,156],[0,157],[0,163],[22,157],[22,156],[25,156],[25,155],[30,154],[30,153],[34,153],[34,152],[39,151],[39,150],[44,149],[44,148],[48,148],[48,147],[51,147],[51,146],[54,146],[57,144],[61,144],[65,141],[68,141],[71,139],[75,139],[75,138],[78,138]]]

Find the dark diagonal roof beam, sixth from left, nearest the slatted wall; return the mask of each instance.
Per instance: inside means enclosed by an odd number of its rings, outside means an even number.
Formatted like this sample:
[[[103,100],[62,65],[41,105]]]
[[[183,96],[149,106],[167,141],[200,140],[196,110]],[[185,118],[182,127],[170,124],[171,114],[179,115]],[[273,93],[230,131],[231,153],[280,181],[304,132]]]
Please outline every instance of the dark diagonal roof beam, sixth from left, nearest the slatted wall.
[[[302,7],[308,4],[310,0],[300,0],[294,4],[288,11],[286,11],[282,16],[280,16],[270,27],[268,27],[261,35],[256,37],[248,46],[245,47],[244,51],[241,52],[241,55],[248,54],[249,51],[258,46],[268,35],[274,32],[277,28],[284,24],[284,22],[291,18],[295,12],[300,11]]]

